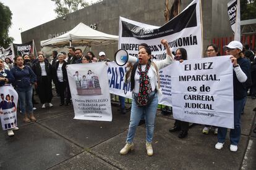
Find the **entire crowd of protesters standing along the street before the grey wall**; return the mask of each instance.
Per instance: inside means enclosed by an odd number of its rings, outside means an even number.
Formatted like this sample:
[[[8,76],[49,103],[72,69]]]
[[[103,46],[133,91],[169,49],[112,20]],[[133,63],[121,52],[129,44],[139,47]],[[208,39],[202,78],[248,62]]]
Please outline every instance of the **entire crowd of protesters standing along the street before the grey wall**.
[[[147,44],[142,43],[139,46],[139,62],[127,64],[125,78],[126,83],[131,83],[133,95],[126,145],[120,151],[122,155],[126,155],[130,150],[134,149],[133,140],[136,127],[142,119],[145,120],[146,124],[147,136],[145,146],[147,155],[153,155],[152,140],[156,109],[158,108],[158,95],[161,94],[158,72],[161,68],[171,65],[173,60],[179,62],[187,60],[186,49],[179,48],[173,55],[166,40],[163,39],[161,44],[166,49],[166,59],[161,61],[153,60],[150,48]],[[229,139],[231,140],[230,150],[236,152],[241,136],[241,114],[244,112],[247,91],[249,89],[249,95],[252,99],[256,99],[256,73],[254,73],[256,71],[256,59],[254,52],[250,51],[246,45],[242,46],[241,42],[238,41],[231,41],[228,46],[224,46],[224,50],[226,54],[233,56],[231,57],[231,62],[233,63],[234,70],[234,129],[231,129],[229,132]],[[218,46],[215,44],[208,45],[206,54],[207,57],[220,55]],[[75,49],[74,47],[69,47],[68,54],[66,52],[58,53],[53,51],[51,61],[46,59],[42,52],[38,52],[36,59],[32,54],[18,55],[14,58],[14,63],[8,58],[5,60],[0,59],[0,86],[12,83],[19,95],[19,110],[23,115],[23,121],[29,123],[30,121],[36,121],[33,114],[34,104],[36,103],[33,99],[34,93],[38,94],[41,108],[53,107],[51,100],[53,99],[52,86],[54,84],[56,94],[60,98],[59,106],[70,105],[71,95],[67,79],[67,65],[94,62],[110,62],[110,60],[106,58],[105,52],[100,52],[97,59],[93,52],[89,51],[83,55],[81,49]],[[86,82],[85,78],[81,77],[80,79],[80,87],[86,88],[90,86],[88,83],[83,83],[83,79]],[[119,96],[119,101],[120,111],[122,114],[125,114],[125,98]],[[19,127],[9,129],[7,134],[13,136],[13,131],[18,129]],[[223,148],[227,129],[205,125],[202,130],[203,134],[208,134],[210,129],[214,129],[213,132],[218,138],[215,148]],[[174,127],[169,129],[169,132],[175,131],[180,131],[179,138],[187,137],[189,123],[176,120]],[[256,129],[254,129],[255,131]]]

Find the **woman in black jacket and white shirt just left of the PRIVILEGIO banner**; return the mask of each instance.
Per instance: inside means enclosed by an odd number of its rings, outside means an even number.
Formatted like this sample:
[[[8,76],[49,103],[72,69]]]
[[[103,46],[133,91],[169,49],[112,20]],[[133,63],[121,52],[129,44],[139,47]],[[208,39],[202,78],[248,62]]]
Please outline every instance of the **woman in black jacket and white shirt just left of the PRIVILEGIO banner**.
[[[59,61],[55,64],[53,79],[56,82],[55,85],[59,89],[59,96],[61,97],[61,103],[59,105],[62,106],[64,105],[64,94],[68,83],[66,70],[67,62],[64,60],[64,55],[62,53],[58,54],[57,57]]]

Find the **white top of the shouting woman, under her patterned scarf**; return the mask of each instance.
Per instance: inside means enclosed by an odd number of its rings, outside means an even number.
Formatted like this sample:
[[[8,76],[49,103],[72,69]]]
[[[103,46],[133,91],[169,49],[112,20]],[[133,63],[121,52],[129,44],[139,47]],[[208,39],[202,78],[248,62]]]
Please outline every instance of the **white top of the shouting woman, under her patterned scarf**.
[[[147,65],[142,65],[142,71],[145,71]],[[134,76],[134,92],[135,93],[139,93],[140,90],[140,75],[139,75],[140,71],[139,68],[137,67],[136,72],[135,72],[135,76]],[[153,69],[148,69],[148,73],[147,73],[148,77],[150,78],[150,84],[151,84],[151,88],[152,91],[155,91],[155,87],[156,87],[156,78],[155,78],[155,73],[153,71]]]

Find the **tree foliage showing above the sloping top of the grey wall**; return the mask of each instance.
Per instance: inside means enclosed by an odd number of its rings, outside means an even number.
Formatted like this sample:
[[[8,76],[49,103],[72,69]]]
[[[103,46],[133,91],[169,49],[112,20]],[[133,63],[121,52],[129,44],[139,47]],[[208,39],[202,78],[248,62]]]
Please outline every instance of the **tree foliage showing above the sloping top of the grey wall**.
[[[57,17],[63,17],[71,12],[82,9],[89,5],[88,2],[84,0],[51,0],[55,2],[56,9],[54,12],[57,14]]]

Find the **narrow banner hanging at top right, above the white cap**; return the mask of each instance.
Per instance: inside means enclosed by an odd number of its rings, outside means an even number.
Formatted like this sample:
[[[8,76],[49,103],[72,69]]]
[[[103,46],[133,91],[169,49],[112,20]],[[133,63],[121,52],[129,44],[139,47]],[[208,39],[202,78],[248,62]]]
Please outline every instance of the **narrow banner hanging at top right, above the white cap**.
[[[234,33],[234,40],[241,41],[240,1],[232,0],[228,2],[228,15]]]

